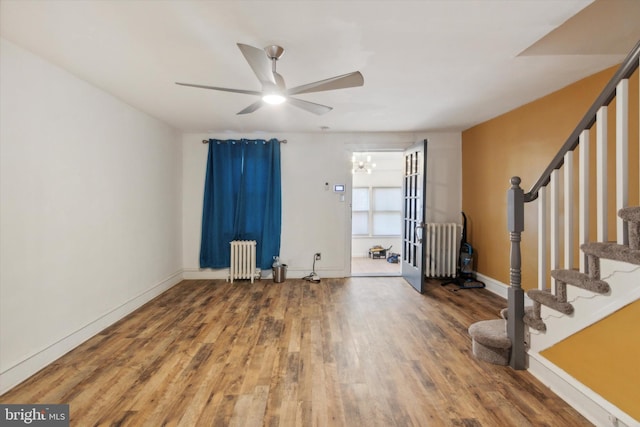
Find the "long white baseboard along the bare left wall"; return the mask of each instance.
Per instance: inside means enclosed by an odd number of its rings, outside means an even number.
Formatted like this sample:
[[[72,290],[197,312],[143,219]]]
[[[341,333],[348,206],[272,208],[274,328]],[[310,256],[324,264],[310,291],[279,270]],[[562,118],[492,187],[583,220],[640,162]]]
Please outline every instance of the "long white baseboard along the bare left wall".
[[[131,298],[129,301],[98,317],[86,326],[49,345],[48,347],[31,354],[21,362],[18,362],[3,372],[0,372],[0,394],[3,394],[20,384],[40,369],[54,362],[56,359],[73,350],[89,338],[98,334],[100,331],[151,301],[167,289],[173,287],[182,279],[182,270],[173,273],[160,283],[153,285],[140,295]]]

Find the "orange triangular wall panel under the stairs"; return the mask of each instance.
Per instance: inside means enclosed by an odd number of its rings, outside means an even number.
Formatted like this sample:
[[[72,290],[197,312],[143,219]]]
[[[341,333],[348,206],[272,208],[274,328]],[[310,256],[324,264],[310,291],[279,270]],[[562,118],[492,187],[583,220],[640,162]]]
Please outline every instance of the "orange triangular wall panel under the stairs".
[[[640,301],[540,354],[640,422]]]

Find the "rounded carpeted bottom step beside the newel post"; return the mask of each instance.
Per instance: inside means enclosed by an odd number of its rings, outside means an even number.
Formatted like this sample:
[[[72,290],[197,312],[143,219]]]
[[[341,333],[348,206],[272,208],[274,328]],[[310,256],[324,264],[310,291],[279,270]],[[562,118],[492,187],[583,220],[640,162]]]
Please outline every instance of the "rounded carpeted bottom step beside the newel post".
[[[508,365],[511,340],[504,319],[482,320],[469,327],[473,355],[494,365]]]

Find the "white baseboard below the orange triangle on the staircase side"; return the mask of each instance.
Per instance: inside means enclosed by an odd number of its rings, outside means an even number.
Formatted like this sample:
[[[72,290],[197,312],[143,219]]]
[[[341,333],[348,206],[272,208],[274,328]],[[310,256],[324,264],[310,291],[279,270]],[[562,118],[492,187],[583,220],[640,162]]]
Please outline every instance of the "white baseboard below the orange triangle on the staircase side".
[[[640,425],[640,422],[576,381],[539,353],[529,353],[529,372],[598,427]]]

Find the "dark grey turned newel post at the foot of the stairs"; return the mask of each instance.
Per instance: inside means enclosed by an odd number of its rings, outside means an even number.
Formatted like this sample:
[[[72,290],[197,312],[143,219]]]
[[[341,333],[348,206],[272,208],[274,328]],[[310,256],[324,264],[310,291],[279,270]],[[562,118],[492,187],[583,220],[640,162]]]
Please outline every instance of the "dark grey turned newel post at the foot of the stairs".
[[[509,365],[517,370],[526,369],[523,321],[524,291],[521,287],[522,257],[520,255],[520,240],[524,231],[524,191],[520,188],[520,182],[520,177],[511,178],[511,188],[507,192],[507,224],[511,240],[507,335],[511,340]]]

